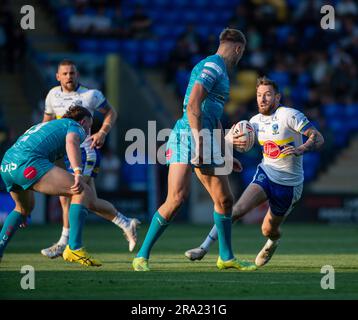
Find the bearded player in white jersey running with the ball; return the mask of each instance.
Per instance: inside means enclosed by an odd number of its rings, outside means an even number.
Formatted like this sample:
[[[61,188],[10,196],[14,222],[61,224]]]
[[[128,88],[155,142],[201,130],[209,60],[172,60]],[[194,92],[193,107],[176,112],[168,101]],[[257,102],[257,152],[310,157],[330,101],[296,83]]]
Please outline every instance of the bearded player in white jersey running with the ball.
[[[258,114],[250,119],[263,159],[252,182],[233,207],[232,220],[247,214],[266,200],[269,209],[262,223],[262,234],[267,241],[255,259],[257,266],[268,263],[281,238],[280,226],[301,197],[303,190],[303,159],[306,152],[319,149],[324,139],[300,111],[280,105],[277,84],[262,77],[257,80]],[[303,143],[302,135],[308,137]],[[235,140],[235,139],[234,139]],[[198,248],[185,252],[190,260],[201,260],[218,238],[214,226]]]

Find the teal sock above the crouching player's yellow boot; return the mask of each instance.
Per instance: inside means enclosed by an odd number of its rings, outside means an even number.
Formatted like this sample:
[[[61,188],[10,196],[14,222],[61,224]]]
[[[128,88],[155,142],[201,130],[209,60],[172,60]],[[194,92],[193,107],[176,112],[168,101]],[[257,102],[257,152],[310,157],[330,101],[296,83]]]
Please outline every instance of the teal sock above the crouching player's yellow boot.
[[[69,212],[70,236],[68,245],[71,250],[82,248],[82,229],[88,215],[88,210],[81,204],[71,204]]]

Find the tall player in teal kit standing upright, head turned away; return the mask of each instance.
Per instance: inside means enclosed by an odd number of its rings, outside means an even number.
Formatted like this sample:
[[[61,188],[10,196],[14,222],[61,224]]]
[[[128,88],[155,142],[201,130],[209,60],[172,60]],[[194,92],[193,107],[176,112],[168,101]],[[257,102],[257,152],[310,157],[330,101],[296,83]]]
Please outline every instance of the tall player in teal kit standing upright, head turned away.
[[[167,198],[155,212],[142,247],[133,260],[132,266],[135,271],[150,271],[150,251],[188,195],[192,170],[210,194],[214,204],[213,215],[219,237],[217,267],[256,269],[255,264],[241,261],[233,255],[233,197],[228,176],[217,175],[215,171],[215,167],[224,164],[214,130],[221,129],[220,138],[223,139],[220,118],[229,95],[228,69],[238,64],[245,50],[246,39],[239,30],[224,29],[219,40],[220,45],[216,54],[200,61],[191,72],[184,98],[183,116],[176,122],[167,143]],[[200,132],[206,132],[207,135],[200,135]],[[239,170],[241,164],[237,160],[233,161],[234,169]]]

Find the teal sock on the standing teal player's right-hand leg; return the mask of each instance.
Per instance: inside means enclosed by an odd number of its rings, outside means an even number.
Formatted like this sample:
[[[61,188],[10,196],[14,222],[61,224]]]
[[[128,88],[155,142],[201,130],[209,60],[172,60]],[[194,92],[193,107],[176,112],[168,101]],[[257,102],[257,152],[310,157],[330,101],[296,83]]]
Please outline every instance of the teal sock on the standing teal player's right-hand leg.
[[[219,214],[214,211],[214,221],[218,230],[220,258],[231,260],[234,258],[231,249],[231,213]]]

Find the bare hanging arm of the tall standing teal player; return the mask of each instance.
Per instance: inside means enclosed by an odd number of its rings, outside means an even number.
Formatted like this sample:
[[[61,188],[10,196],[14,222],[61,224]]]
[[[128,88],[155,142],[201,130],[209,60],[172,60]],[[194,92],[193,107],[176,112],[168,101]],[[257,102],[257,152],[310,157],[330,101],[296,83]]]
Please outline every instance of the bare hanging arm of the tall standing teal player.
[[[192,159],[192,163],[195,165],[200,165],[203,160],[203,137],[199,135],[199,132],[202,129],[201,104],[206,96],[207,91],[204,86],[195,83],[187,105],[189,125],[196,143],[196,157]]]

